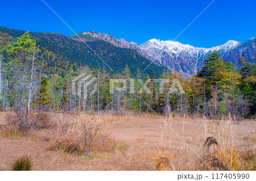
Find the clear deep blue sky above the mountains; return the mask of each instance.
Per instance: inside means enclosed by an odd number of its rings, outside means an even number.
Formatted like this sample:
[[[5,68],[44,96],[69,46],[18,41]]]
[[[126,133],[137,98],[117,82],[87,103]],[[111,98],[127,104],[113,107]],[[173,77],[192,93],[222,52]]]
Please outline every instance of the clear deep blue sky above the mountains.
[[[44,1],[77,33],[106,32],[141,44],[152,38],[174,40],[213,0]],[[41,0],[1,0],[0,26],[73,34]],[[216,0],[176,41],[208,48],[253,36],[255,0]]]

